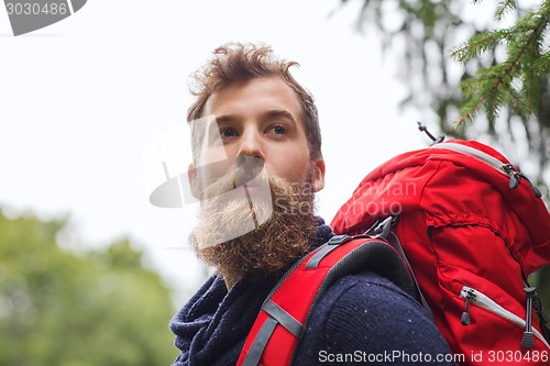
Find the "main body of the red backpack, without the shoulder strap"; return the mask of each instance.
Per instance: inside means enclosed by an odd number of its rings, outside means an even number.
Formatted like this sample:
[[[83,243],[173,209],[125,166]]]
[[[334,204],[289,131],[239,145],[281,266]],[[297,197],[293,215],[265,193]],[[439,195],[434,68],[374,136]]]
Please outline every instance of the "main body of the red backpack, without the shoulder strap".
[[[493,148],[450,140],[369,174],[332,228],[361,233],[398,215],[393,232],[464,364],[548,364],[546,319],[527,282],[550,264],[550,214],[540,196]]]

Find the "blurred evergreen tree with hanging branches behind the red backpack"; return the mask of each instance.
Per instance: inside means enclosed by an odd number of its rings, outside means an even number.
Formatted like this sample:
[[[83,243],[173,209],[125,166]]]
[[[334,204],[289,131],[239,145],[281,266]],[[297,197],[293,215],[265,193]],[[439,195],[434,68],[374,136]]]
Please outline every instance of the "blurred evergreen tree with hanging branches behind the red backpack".
[[[402,108],[416,108],[447,135],[486,138],[535,178],[548,202],[550,0],[359,2],[358,29],[375,31],[397,60],[407,86]],[[531,280],[548,310],[550,266]]]

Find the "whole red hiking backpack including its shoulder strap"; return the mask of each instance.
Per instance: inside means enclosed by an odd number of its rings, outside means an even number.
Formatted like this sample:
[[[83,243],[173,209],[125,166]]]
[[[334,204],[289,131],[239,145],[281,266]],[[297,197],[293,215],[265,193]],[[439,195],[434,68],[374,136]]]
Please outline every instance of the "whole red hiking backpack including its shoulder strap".
[[[503,155],[476,142],[396,156],[334,217],[337,234],[355,236],[334,237],[276,286],[238,365],[290,364],[316,300],[359,266],[416,293],[462,364],[548,364],[544,313],[527,282],[550,264],[550,214],[540,196]]]

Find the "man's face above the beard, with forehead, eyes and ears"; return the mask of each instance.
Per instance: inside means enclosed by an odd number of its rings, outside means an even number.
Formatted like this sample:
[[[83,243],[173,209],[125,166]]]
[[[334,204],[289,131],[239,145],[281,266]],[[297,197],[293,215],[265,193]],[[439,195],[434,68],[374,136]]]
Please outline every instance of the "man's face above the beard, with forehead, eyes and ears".
[[[324,163],[311,162],[298,97],[279,77],[232,84],[210,96],[202,114],[216,123],[206,129],[199,168],[190,166],[191,182],[208,185],[239,157],[255,157],[274,176],[292,184],[311,178],[314,190],[322,189]]]

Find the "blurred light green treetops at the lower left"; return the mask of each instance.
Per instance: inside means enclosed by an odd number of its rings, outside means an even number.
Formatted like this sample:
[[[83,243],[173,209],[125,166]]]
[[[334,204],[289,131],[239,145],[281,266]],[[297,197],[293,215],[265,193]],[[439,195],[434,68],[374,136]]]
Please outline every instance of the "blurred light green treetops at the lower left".
[[[65,226],[0,211],[0,365],[169,365],[170,293],[142,253],[62,249]]]

